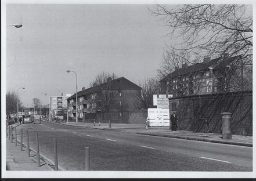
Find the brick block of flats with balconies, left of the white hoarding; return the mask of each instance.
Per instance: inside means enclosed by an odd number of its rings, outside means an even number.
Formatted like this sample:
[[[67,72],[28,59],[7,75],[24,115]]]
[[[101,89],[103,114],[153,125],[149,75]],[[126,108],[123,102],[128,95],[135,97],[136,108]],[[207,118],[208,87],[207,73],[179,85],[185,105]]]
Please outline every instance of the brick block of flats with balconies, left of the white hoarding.
[[[107,82],[94,85],[91,88],[82,88],[82,91],[77,93],[78,96],[78,118],[84,118],[87,113],[96,113],[96,111],[102,111],[100,104],[111,102],[111,110],[127,110],[135,107],[136,99],[135,95],[138,91],[141,91],[140,86],[134,84],[124,77],[117,79],[108,79]],[[100,97],[104,96],[104,97]],[[108,95],[109,97],[105,96]],[[76,95],[68,97],[68,110],[69,116],[75,117]],[[107,99],[107,100],[104,100]],[[105,102],[104,102],[105,101]],[[103,106],[102,106],[103,107]]]

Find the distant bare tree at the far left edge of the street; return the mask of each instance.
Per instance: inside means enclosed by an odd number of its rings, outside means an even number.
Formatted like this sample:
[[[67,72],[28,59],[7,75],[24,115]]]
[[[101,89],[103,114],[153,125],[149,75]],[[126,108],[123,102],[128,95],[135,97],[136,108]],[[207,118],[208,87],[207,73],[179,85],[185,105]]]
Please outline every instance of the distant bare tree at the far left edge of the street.
[[[17,101],[19,102],[19,107],[22,107],[20,99],[17,99],[15,92],[6,93],[6,115],[11,113],[17,113]]]

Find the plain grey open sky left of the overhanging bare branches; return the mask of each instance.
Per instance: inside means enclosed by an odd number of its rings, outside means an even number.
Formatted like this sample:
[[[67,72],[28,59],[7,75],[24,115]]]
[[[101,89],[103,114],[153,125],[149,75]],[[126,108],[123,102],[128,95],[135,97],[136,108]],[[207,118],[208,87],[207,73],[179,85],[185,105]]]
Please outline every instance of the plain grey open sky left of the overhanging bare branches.
[[[89,88],[105,71],[135,84],[156,77],[168,42],[167,27],[139,4],[6,4],[6,92],[19,90],[25,107],[34,97]],[[49,93],[45,96],[45,93]]]

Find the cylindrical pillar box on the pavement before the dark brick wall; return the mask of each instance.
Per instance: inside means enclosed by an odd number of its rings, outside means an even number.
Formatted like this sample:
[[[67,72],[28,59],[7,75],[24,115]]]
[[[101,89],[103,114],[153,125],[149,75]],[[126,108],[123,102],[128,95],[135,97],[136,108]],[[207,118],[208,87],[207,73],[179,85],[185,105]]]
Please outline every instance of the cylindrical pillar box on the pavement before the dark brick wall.
[[[231,135],[231,114],[232,113],[221,113],[222,115],[222,139],[232,139]]]

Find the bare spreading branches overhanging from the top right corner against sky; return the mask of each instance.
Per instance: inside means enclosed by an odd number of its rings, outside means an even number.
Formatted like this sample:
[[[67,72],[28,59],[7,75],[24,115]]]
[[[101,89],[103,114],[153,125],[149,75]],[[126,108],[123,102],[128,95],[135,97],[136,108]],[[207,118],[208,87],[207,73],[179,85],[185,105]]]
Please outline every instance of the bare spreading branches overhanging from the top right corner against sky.
[[[150,12],[170,27],[170,37],[179,38],[183,48],[175,49],[202,57],[253,55],[252,5],[157,5]]]

